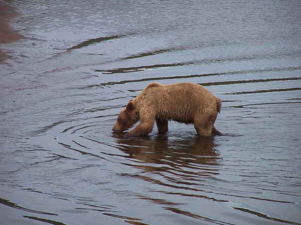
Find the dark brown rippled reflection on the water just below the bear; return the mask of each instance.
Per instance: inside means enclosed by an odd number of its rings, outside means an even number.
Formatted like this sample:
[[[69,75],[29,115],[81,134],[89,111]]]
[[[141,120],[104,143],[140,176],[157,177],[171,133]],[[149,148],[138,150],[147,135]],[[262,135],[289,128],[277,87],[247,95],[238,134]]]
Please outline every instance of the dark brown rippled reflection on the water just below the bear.
[[[132,166],[145,172],[166,171],[180,176],[211,177],[218,173],[219,153],[214,137],[116,138],[117,148],[126,153]]]

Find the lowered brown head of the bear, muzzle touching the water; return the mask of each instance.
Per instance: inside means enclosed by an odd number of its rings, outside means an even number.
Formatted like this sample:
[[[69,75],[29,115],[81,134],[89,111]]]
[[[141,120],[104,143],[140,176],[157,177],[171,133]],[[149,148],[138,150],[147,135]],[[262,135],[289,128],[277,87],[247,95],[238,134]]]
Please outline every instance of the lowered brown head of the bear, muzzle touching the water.
[[[117,117],[117,121],[112,128],[114,132],[123,132],[131,128],[139,120],[139,116],[135,113],[135,105],[131,99],[126,107],[121,110]]]

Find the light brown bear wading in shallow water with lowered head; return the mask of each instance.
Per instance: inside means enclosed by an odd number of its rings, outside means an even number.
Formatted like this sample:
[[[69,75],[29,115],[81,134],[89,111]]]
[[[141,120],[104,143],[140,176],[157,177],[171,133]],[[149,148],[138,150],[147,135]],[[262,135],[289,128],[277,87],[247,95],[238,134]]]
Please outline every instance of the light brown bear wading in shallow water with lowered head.
[[[158,132],[168,131],[168,121],[194,124],[200,136],[221,135],[213,126],[222,102],[202,85],[150,83],[118,115],[114,132],[123,132],[135,125],[126,136],[144,136],[153,130],[156,120]]]

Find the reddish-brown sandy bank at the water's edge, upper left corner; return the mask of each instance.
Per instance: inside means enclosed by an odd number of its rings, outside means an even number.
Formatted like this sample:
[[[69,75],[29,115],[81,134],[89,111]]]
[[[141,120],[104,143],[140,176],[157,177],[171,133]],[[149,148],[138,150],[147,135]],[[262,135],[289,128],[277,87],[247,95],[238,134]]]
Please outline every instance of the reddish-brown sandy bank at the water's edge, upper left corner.
[[[0,0],[0,44],[10,43],[24,38],[11,26],[10,20],[18,16],[17,11],[5,1]],[[7,54],[0,48],[0,62]]]

